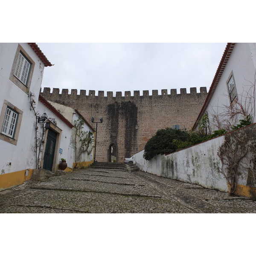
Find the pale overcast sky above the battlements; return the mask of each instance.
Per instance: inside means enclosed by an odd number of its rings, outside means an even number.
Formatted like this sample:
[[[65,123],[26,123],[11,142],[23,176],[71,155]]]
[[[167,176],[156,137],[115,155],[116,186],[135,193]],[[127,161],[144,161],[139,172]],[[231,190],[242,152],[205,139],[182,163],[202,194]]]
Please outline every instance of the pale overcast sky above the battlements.
[[[227,43],[37,43],[48,60],[42,88],[131,91],[207,87]],[[60,90],[61,92],[61,90]]]

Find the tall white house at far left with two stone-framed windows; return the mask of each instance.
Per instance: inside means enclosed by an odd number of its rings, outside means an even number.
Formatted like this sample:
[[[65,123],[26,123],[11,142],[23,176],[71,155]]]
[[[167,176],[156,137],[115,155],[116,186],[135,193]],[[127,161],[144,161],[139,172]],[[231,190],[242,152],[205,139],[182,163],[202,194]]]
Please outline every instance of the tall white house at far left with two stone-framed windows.
[[[44,67],[52,66],[35,43],[0,43],[0,190],[32,176],[35,113]]]

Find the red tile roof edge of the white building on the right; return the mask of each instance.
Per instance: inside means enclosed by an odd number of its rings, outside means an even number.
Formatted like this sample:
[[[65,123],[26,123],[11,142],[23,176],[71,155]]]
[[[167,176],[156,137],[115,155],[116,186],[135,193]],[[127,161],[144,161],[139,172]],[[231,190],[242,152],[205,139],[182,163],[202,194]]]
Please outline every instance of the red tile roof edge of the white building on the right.
[[[215,89],[216,89],[216,87],[218,85],[218,82],[220,81],[220,78],[221,78],[221,75],[222,75],[222,73],[224,71],[224,68],[227,65],[227,61],[228,61],[228,59],[230,57],[230,54],[231,54],[234,46],[235,46],[235,43],[228,43],[227,44],[226,49],[225,49],[225,51],[224,51],[224,53],[222,55],[220,64],[218,65],[218,69],[217,69],[217,71],[215,73],[214,79],[212,81],[212,85],[211,85],[211,87],[209,89],[209,92],[207,94],[207,97],[205,99],[204,105],[203,105],[203,107],[202,107],[202,109],[201,109],[201,111],[200,111],[200,113],[198,115],[198,118],[195,121],[195,124],[194,124],[192,130],[194,130],[197,127],[197,121],[200,120],[202,118],[202,116],[204,115],[204,113],[205,113],[205,111],[206,111],[206,109],[207,109],[207,107],[209,105],[209,102],[212,99],[212,95],[215,92]]]

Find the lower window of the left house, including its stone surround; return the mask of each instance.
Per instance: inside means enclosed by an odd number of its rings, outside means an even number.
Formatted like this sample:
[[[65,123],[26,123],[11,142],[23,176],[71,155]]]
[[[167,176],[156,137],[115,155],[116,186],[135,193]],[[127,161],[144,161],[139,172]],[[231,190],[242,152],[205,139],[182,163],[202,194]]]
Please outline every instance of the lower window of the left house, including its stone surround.
[[[0,140],[17,145],[23,111],[4,100],[0,113]]]

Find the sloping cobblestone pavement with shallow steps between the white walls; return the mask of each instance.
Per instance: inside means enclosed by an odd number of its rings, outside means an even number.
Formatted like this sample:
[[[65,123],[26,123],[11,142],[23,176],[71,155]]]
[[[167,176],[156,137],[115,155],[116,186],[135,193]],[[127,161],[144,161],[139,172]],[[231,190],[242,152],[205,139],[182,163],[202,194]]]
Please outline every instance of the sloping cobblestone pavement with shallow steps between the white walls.
[[[256,213],[256,202],[144,172],[76,170],[0,192],[0,213]]]

